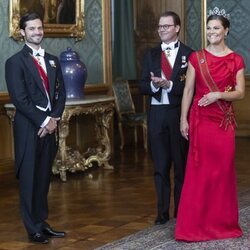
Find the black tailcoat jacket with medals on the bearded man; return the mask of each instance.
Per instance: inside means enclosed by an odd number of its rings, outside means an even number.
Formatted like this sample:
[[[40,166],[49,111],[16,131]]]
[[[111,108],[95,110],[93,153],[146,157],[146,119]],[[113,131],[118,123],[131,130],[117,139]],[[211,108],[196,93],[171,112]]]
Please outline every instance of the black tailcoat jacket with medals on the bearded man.
[[[16,173],[22,165],[24,152],[32,145],[34,134],[47,116],[61,117],[65,105],[65,88],[61,67],[57,57],[45,53],[44,59],[49,79],[51,111],[41,111],[36,106],[46,108],[48,99],[41,76],[31,56],[28,46],[6,61],[6,83],[11,101],[16,108],[14,119]],[[30,138],[31,137],[31,138]]]

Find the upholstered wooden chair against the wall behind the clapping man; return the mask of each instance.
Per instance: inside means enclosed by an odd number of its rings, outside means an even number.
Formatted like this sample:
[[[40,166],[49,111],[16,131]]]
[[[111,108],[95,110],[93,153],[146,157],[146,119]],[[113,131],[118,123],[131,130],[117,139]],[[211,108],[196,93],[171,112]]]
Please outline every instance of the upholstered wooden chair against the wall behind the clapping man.
[[[125,126],[134,128],[134,140],[137,145],[137,127],[143,131],[144,149],[147,151],[147,117],[146,113],[136,113],[129,84],[126,80],[116,79],[113,82],[116,111],[118,115],[118,128],[121,137],[120,149],[124,147],[123,129]]]

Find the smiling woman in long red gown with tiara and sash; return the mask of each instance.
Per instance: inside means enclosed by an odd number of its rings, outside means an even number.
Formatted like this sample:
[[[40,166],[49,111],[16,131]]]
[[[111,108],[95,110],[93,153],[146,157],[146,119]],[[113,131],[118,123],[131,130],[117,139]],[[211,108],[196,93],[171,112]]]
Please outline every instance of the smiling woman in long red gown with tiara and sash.
[[[209,16],[209,45],[189,58],[181,133],[189,139],[190,147],[176,240],[206,241],[242,235],[238,223],[232,101],[244,97],[245,65],[242,57],[225,44],[229,26],[224,16]]]

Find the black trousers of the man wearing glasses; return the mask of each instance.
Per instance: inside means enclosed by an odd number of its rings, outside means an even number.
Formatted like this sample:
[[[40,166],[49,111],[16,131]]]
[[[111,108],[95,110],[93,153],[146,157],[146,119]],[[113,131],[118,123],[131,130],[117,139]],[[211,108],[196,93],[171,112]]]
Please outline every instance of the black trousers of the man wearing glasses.
[[[169,218],[170,169],[174,168],[174,217],[184,181],[188,142],[180,133],[180,106],[151,105],[148,114],[149,145],[154,163],[158,214]]]

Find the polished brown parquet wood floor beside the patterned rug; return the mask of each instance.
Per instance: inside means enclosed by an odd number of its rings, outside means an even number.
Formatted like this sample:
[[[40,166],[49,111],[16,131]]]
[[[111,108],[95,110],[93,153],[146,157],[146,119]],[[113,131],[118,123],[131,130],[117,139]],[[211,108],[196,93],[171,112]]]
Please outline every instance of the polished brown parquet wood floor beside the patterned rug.
[[[118,148],[118,147],[117,147]],[[238,191],[250,189],[250,138],[237,139]],[[152,164],[143,149],[118,149],[114,170],[92,168],[68,174],[62,183],[52,177],[48,222],[67,237],[48,245],[31,244],[23,228],[18,203],[18,183],[13,166],[0,171],[0,249],[95,249],[151,226],[155,219]],[[2,171],[4,170],[4,171]]]

